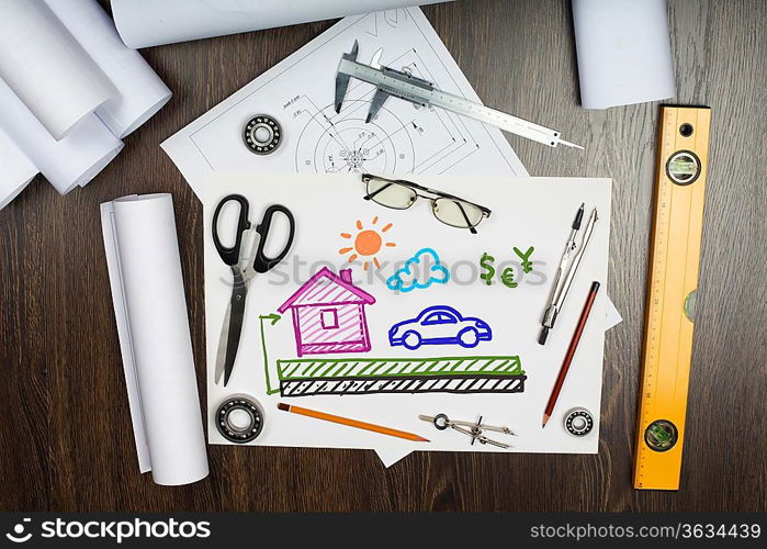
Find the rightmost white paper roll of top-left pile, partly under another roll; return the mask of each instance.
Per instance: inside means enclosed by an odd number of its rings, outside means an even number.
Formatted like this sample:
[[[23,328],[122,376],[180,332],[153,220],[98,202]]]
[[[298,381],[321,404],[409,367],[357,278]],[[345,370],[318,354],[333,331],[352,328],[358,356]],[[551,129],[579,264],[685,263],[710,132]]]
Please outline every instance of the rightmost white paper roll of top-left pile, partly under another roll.
[[[114,22],[95,0],[45,0],[116,89],[95,113],[117,137],[149,120],[170,90],[140,54],[123,44]]]

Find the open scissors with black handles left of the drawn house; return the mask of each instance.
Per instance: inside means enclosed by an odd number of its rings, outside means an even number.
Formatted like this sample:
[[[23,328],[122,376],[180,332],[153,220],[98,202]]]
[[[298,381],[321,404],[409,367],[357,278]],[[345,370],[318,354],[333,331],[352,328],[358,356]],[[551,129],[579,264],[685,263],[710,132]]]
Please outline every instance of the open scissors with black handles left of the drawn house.
[[[235,243],[230,246],[224,246],[218,237],[218,214],[221,214],[222,209],[229,202],[237,202],[239,204],[239,217],[237,220],[237,233],[235,234]],[[242,322],[245,321],[245,301],[248,295],[248,282],[252,279],[256,272],[267,272],[273,267],[275,267],[291,249],[293,244],[293,235],[295,234],[295,220],[293,219],[293,213],[283,205],[273,204],[267,208],[263,213],[261,223],[256,225],[256,233],[258,233],[258,247],[256,248],[256,254],[252,262],[252,273],[249,266],[244,266],[240,262],[240,248],[242,246],[242,236],[247,231],[251,228],[250,220],[248,219],[248,213],[250,210],[250,204],[248,199],[241,194],[229,194],[224,197],[215,212],[213,213],[213,243],[216,246],[216,250],[221,256],[222,260],[229,266],[232,269],[232,276],[234,278],[234,283],[232,285],[232,299],[229,300],[229,306],[226,311],[226,317],[224,318],[224,326],[222,329],[221,340],[218,344],[218,355],[216,357],[216,370],[215,370],[215,381],[218,383],[222,376],[224,377],[224,386],[229,382],[232,377],[232,370],[235,367],[235,359],[237,358],[237,349],[239,348],[239,339],[242,334]],[[263,247],[267,243],[267,236],[269,235],[269,228],[272,224],[272,219],[275,213],[282,213],[287,217],[290,224],[290,229],[287,234],[287,242],[282,251],[274,256],[268,257],[263,253]],[[245,259],[248,261],[248,258]]]

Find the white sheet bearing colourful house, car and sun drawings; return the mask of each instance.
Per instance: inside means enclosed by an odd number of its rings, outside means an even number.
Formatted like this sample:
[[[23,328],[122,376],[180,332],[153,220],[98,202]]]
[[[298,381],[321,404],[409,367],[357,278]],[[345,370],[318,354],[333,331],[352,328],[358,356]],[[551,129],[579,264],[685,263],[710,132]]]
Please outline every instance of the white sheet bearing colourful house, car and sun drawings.
[[[230,298],[232,274],[215,250],[212,238],[204,238],[210,442],[228,444],[217,433],[213,415],[224,397],[245,393],[258,400],[264,410],[263,432],[252,445],[366,448],[375,449],[388,460],[413,450],[597,451],[607,303],[604,292],[597,296],[593,316],[545,429],[541,429],[541,417],[590,284],[594,280],[607,283],[610,181],[484,176],[418,176],[414,179],[420,184],[485,204],[493,213],[477,227],[478,234],[473,235],[469,231],[439,223],[431,215],[430,205],[426,201],[416,202],[408,210],[390,210],[363,200],[364,187],[359,175],[274,175],[269,178],[261,175],[222,175],[206,181],[206,197],[203,201],[204,235],[212,232],[213,211],[217,202],[230,193],[240,193],[248,199],[250,221],[255,224],[259,223],[264,209],[275,203],[289,208],[296,220],[295,240],[289,258],[273,271],[257,274],[250,282],[242,338],[226,388],[214,383],[214,365],[218,336],[222,334],[224,314]],[[553,194],[557,197],[554,202],[550,200]],[[587,211],[597,208],[599,221],[571,290],[572,303],[564,307],[546,346],[540,346],[540,316],[545,309],[551,277],[560,261],[561,233],[566,232],[573,212],[582,202],[586,203]],[[391,227],[386,228],[390,224]],[[359,244],[357,236],[366,229],[380,232],[382,245],[374,255],[358,254],[358,257],[352,258]],[[345,237],[345,234],[352,238]],[[270,234],[270,239],[275,249],[281,247],[279,232]],[[352,242],[353,245],[350,244]],[[393,243],[394,246],[390,247],[387,243]],[[527,250],[531,246],[534,247],[531,256],[533,268],[529,273],[523,273],[519,259],[515,259],[512,247]],[[353,249],[350,250],[349,247]],[[449,268],[452,278],[444,284],[432,282],[425,289],[393,292],[386,279],[403,266],[406,258],[422,248],[433,249],[439,256],[440,265]],[[244,249],[250,249],[249,243]],[[495,265],[506,262],[515,269],[515,276],[518,277],[515,279],[518,283],[516,288],[507,288],[497,276],[487,285],[477,276],[483,272],[477,269],[484,253],[496,258]],[[375,260],[380,268],[375,268]],[[365,294],[374,298],[374,303],[370,303],[370,300],[364,302],[364,314],[357,317],[358,324],[364,324],[366,328],[369,351],[364,351],[364,345],[338,347],[358,343],[359,334],[354,330],[343,332],[342,340],[320,340],[316,335],[316,326],[305,322],[302,312],[297,313],[296,322],[291,307],[312,307],[311,295],[330,295],[332,284],[316,293],[305,288],[312,274],[316,274],[322,267],[340,278],[342,270],[351,269],[351,284],[365,292],[356,295],[362,300]],[[411,284],[413,280],[406,282]],[[300,291],[304,293],[291,300]],[[356,301],[348,291],[332,295],[345,306]],[[338,309],[337,318],[334,318],[334,314],[325,311],[330,309],[326,301],[320,303],[322,311],[317,311],[320,317],[324,315],[326,320],[330,320],[324,328],[346,327],[345,321],[348,317],[342,310]],[[357,302],[362,303],[360,300]],[[492,338],[478,341],[473,348],[444,344],[422,345],[408,350],[403,346],[391,345],[388,334],[394,324],[413,318],[419,311],[432,305],[449,305],[464,317],[475,316],[484,321],[493,329]],[[272,324],[268,316],[281,309],[281,318]],[[301,336],[301,344],[297,335]],[[336,347],[326,347],[323,352],[309,348],[315,346],[317,349],[319,345],[330,344]],[[351,378],[362,378],[364,372],[356,369],[354,365],[362,365],[364,360],[380,360],[386,369],[395,370],[407,367],[403,365],[409,361],[422,362],[422,370],[419,371],[435,372],[435,368],[438,368],[437,371],[441,374],[447,370],[442,363],[438,363],[440,357],[460,358],[461,365],[455,361],[450,366],[455,370],[471,369],[471,365],[485,365],[481,361],[487,357],[512,356],[519,357],[527,376],[521,392],[463,394],[459,390],[458,393],[385,393],[381,392],[383,385],[375,384],[375,380],[371,385],[341,385],[340,390],[349,391],[342,395],[322,392],[337,390],[332,383],[339,379],[346,383]],[[331,362],[334,360],[336,362]],[[338,365],[338,370],[326,370],[330,363]],[[302,368],[307,370],[303,371]],[[370,368],[382,376],[387,374],[380,365]],[[348,372],[351,372],[351,378],[348,378]],[[328,378],[328,383],[323,385]],[[369,379],[365,378],[364,381]],[[279,391],[281,388],[284,395],[279,392],[267,394],[269,389]],[[278,402],[415,433],[431,442],[409,442],[280,412],[277,410]],[[564,429],[563,417],[575,406],[588,408],[595,417],[595,429],[589,436],[573,437]],[[482,415],[487,424],[508,426],[518,434],[517,437],[487,435],[508,441],[514,448],[503,450],[476,444],[471,446],[467,437],[452,430],[438,432],[431,424],[418,419],[419,414],[438,413],[469,421]]]

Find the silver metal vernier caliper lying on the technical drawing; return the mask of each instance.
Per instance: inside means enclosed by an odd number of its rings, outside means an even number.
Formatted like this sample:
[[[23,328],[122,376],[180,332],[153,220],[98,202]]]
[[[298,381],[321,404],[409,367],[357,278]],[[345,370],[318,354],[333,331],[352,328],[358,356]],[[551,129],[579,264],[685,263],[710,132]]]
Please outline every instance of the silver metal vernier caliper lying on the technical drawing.
[[[435,88],[432,82],[418,78],[409,72],[396,70],[381,65],[383,49],[379,49],[370,65],[357,60],[359,44],[354,41],[351,52],[341,56],[336,75],[336,112],[341,112],[349,81],[352,78],[375,86],[375,94],[368,112],[365,122],[373,120],[390,97],[395,97],[421,107],[439,107],[445,111],[469,116],[470,119],[490,124],[500,130],[520,135],[528,139],[542,143],[550,147],[566,145],[580,148],[580,145],[566,142],[560,132],[533,124],[527,120],[507,114],[482,103],[470,101],[461,96],[454,96]]]

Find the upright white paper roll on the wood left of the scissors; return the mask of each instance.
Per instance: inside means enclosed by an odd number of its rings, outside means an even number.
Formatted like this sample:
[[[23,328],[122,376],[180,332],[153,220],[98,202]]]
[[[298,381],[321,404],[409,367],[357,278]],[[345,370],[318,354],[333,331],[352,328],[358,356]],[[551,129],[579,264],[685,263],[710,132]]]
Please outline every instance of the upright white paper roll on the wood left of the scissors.
[[[158,484],[207,477],[170,194],[101,204],[112,300],[142,472]]]

